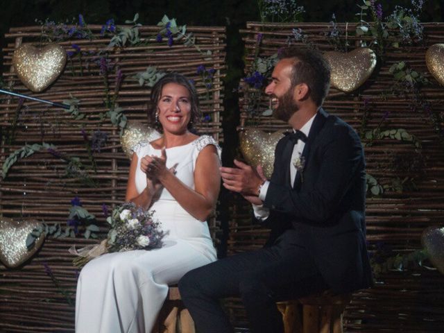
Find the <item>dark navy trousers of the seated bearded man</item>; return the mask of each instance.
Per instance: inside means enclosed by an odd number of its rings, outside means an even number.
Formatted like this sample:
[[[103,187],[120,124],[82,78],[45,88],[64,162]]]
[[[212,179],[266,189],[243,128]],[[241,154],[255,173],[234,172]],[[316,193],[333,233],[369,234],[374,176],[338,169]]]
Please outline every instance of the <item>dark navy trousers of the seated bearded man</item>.
[[[180,295],[199,333],[233,332],[220,298],[240,296],[252,332],[283,332],[275,302],[328,289],[307,250],[287,230],[268,248],[196,268],[179,282]]]

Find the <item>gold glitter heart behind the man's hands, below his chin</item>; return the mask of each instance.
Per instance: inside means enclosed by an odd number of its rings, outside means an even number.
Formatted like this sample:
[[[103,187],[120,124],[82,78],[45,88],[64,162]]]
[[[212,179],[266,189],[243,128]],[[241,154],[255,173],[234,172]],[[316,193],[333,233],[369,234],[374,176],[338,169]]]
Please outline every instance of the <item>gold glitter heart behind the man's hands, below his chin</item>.
[[[266,178],[270,179],[275,161],[275,148],[278,141],[284,137],[280,131],[266,133],[256,128],[244,128],[239,133],[241,152],[246,162],[252,167],[262,165]]]

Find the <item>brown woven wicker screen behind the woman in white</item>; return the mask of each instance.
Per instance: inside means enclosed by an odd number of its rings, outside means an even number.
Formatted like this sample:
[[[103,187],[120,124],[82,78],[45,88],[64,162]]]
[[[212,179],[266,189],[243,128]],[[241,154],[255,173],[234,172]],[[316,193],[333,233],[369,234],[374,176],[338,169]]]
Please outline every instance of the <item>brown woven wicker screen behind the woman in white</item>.
[[[89,172],[89,178],[98,184],[89,187],[73,178],[66,178],[66,162],[54,157],[46,150],[17,161],[8,176],[1,181],[0,214],[10,217],[24,217],[44,221],[49,225],[66,225],[70,200],[78,196],[90,213],[97,218],[101,233],[107,232],[105,216],[101,206],[122,203],[125,198],[129,160],[120,146],[119,128],[112,126],[110,119],[101,119],[106,112],[103,100],[105,88],[99,67],[92,57],[110,42],[99,35],[101,26],[89,25],[94,33],[92,40],[60,42],[66,50],[71,44],[80,46],[82,51],[92,51],[91,56],[83,56],[82,62],[73,57],[67,62],[65,71],[49,89],[33,94],[22,85],[12,68],[12,53],[21,44],[40,41],[40,26],[11,28],[6,38],[10,41],[4,52],[3,80],[15,92],[28,94],[40,99],[61,102],[70,99],[70,94],[80,99],[80,112],[87,117],[74,120],[71,114],[62,109],[50,108],[42,103],[25,100],[17,117],[15,138],[7,142],[6,133],[11,131],[16,116],[18,100],[0,96],[1,160],[21,148],[24,144],[46,142],[57,146],[60,153],[80,157],[89,165],[90,157],[85,148],[81,127],[87,135],[100,129],[108,134],[108,142],[100,152],[93,152],[96,172]],[[141,38],[155,36],[156,26],[139,28]],[[194,80],[198,90],[204,121],[195,126],[200,134],[212,135],[217,141],[221,135],[221,110],[223,99],[222,78],[225,75],[225,28],[187,27],[187,33],[196,37],[196,46],[185,46],[175,41],[173,46],[151,42],[144,46],[131,46],[110,51],[109,57],[114,68],[110,71],[111,95],[114,92],[115,67],[123,72],[123,83],[117,98],[119,106],[129,121],[147,123],[146,102],[150,94],[148,87],[140,87],[137,72],[148,66],[158,71],[178,71]],[[198,51],[200,49],[200,51]],[[211,51],[211,54],[207,53]],[[89,67],[87,67],[87,63]],[[214,69],[212,85],[206,87],[196,73],[199,65]],[[214,234],[216,221],[210,228]],[[78,271],[71,264],[72,255],[67,252],[74,244],[82,247],[93,241],[82,238],[47,239],[40,252],[21,268],[7,269],[0,266],[0,331],[1,332],[74,332],[74,302]],[[55,286],[45,273],[47,263],[54,277]],[[46,268],[47,270],[48,268]],[[3,331],[4,330],[4,331]]]

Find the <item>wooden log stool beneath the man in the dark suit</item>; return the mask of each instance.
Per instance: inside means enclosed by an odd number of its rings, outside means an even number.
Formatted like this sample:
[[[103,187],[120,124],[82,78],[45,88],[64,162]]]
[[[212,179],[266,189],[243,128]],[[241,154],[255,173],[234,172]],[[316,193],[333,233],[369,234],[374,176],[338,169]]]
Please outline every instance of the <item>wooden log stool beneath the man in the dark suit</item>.
[[[333,295],[330,291],[278,302],[285,333],[342,333],[342,318],[351,294]]]

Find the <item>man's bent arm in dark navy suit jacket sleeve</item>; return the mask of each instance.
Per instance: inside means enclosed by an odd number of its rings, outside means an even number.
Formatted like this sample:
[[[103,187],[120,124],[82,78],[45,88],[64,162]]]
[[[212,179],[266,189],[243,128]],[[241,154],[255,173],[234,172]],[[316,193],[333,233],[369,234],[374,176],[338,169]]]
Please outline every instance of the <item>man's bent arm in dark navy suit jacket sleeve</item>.
[[[272,179],[265,207],[315,223],[326,221],[336,212],[343,196],[360,176],[359,171],[364,170],[363,150],[350,126],[331,126],[322,139],[321,166],[313,189],[308,191],[302,186],[300,191],[294,191]],[[309,173],[309,167],[308,164],[305,173]]]

